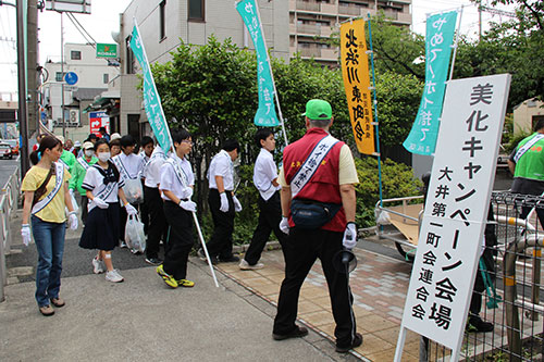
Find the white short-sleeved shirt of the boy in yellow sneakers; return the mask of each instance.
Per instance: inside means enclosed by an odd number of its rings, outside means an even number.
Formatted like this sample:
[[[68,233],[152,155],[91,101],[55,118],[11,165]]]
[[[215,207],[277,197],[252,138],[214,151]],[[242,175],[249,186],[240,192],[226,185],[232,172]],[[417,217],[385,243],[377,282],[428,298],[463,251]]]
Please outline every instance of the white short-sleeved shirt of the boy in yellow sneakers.
[[[180,199],[188,199],[190,197],[190,192],[193,191],[188,187],[184,187],[181,180],[183,175],[177,175],[174,166],[170,163],[173,160],[177,165],[180,165],[181,171],[185,174],[187,179],[187,186],[195,185],[195,175],[193,174],[193,168],[190,167],[190,162],[187,159],[180,159],[176,154],[173,154],[168,162],[161,167],[161,190],[168,190],[174,192],[174,195]],[[168,196],[162,194],[163,200],[172,201]]]

